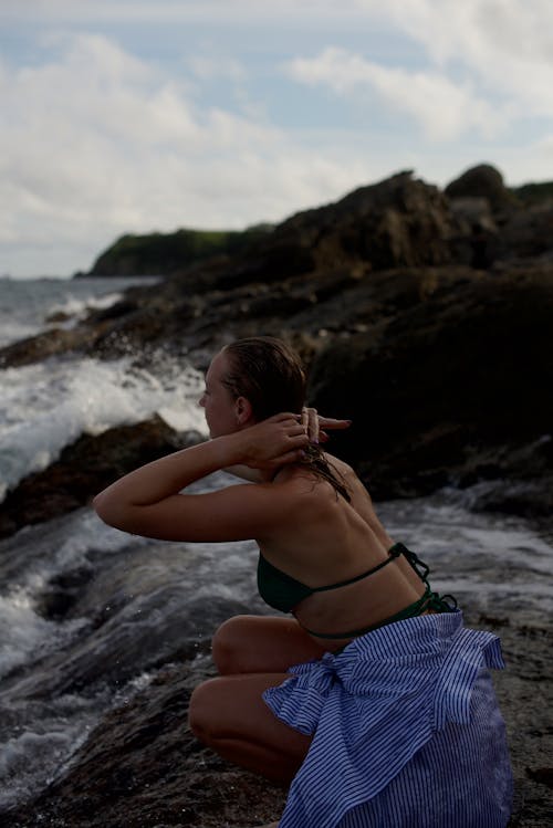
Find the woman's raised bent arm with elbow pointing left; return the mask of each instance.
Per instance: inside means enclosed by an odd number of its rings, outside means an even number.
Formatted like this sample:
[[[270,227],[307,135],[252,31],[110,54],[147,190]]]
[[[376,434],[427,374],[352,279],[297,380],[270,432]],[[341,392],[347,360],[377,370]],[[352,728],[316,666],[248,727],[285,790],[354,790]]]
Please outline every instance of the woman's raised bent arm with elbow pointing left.
[[[136,469],[96,495],[94,509],[105,523],[147,537],[175,541],[255,537],[267,520],[265,495],[249,491],[244,499],[243,491],[239,491],[244,486],[199,495],[181,491],[229,467],[271,470],[294,462],[306,443],[307,437],[296,416],[276,415]]]

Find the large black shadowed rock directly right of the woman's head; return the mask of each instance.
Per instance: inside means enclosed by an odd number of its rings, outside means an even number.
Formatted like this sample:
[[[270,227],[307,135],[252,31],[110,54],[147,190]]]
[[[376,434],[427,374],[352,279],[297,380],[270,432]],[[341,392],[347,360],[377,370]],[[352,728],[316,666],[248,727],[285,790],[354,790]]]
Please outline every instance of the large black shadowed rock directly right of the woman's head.
[[[333,444],[377,499],[513,479],[550,509],[552,308],[553,270],[467,273],[316,353],[311,398],[353,420]]]

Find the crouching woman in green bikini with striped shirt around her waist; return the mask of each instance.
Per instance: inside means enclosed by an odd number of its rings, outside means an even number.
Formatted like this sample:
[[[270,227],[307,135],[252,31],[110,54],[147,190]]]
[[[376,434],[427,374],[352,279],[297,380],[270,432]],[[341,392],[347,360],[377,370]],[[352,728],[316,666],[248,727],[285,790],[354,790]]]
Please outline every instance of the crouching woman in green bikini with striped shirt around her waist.
[[[190,726],[225,758],[291,783],[281,828],[503,828],[511,772],[488,672],[502,667],[499,641],[431,591],[351,467],[317,444],[320,427],[348,422],[317,418],[304,396],[283,342],[234,342],[206,375],[211,439],[95,499],[134,534],[254,538],[260,594],[292,614],[219,628],[219,677],[192,694]],[[222,469],[248,482],[187,493]]]

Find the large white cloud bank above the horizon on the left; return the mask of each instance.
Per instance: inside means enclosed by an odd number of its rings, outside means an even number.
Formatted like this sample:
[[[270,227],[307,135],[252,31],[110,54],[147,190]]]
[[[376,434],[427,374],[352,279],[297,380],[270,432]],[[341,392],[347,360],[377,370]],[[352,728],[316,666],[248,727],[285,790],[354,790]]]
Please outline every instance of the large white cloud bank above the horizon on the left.
[[[8,253],[32,237],[41,256],[60,249],[59,261],[81,247],[74,269],[87,268],[119,233],[280,220],[362,175],[262,120],[200,108],[189,91],[100,35],[64,41],[39,67],[3,66]],[[0,259],[0,272],[12,266]]]

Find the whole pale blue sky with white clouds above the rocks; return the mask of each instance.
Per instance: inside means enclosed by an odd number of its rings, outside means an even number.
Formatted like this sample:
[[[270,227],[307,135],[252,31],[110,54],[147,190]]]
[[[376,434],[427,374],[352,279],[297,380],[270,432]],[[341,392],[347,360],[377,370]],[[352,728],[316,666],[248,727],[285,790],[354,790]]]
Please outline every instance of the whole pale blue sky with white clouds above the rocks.
[[[551,0],[0,0],[0,276],[405,169],[553,180]]]

